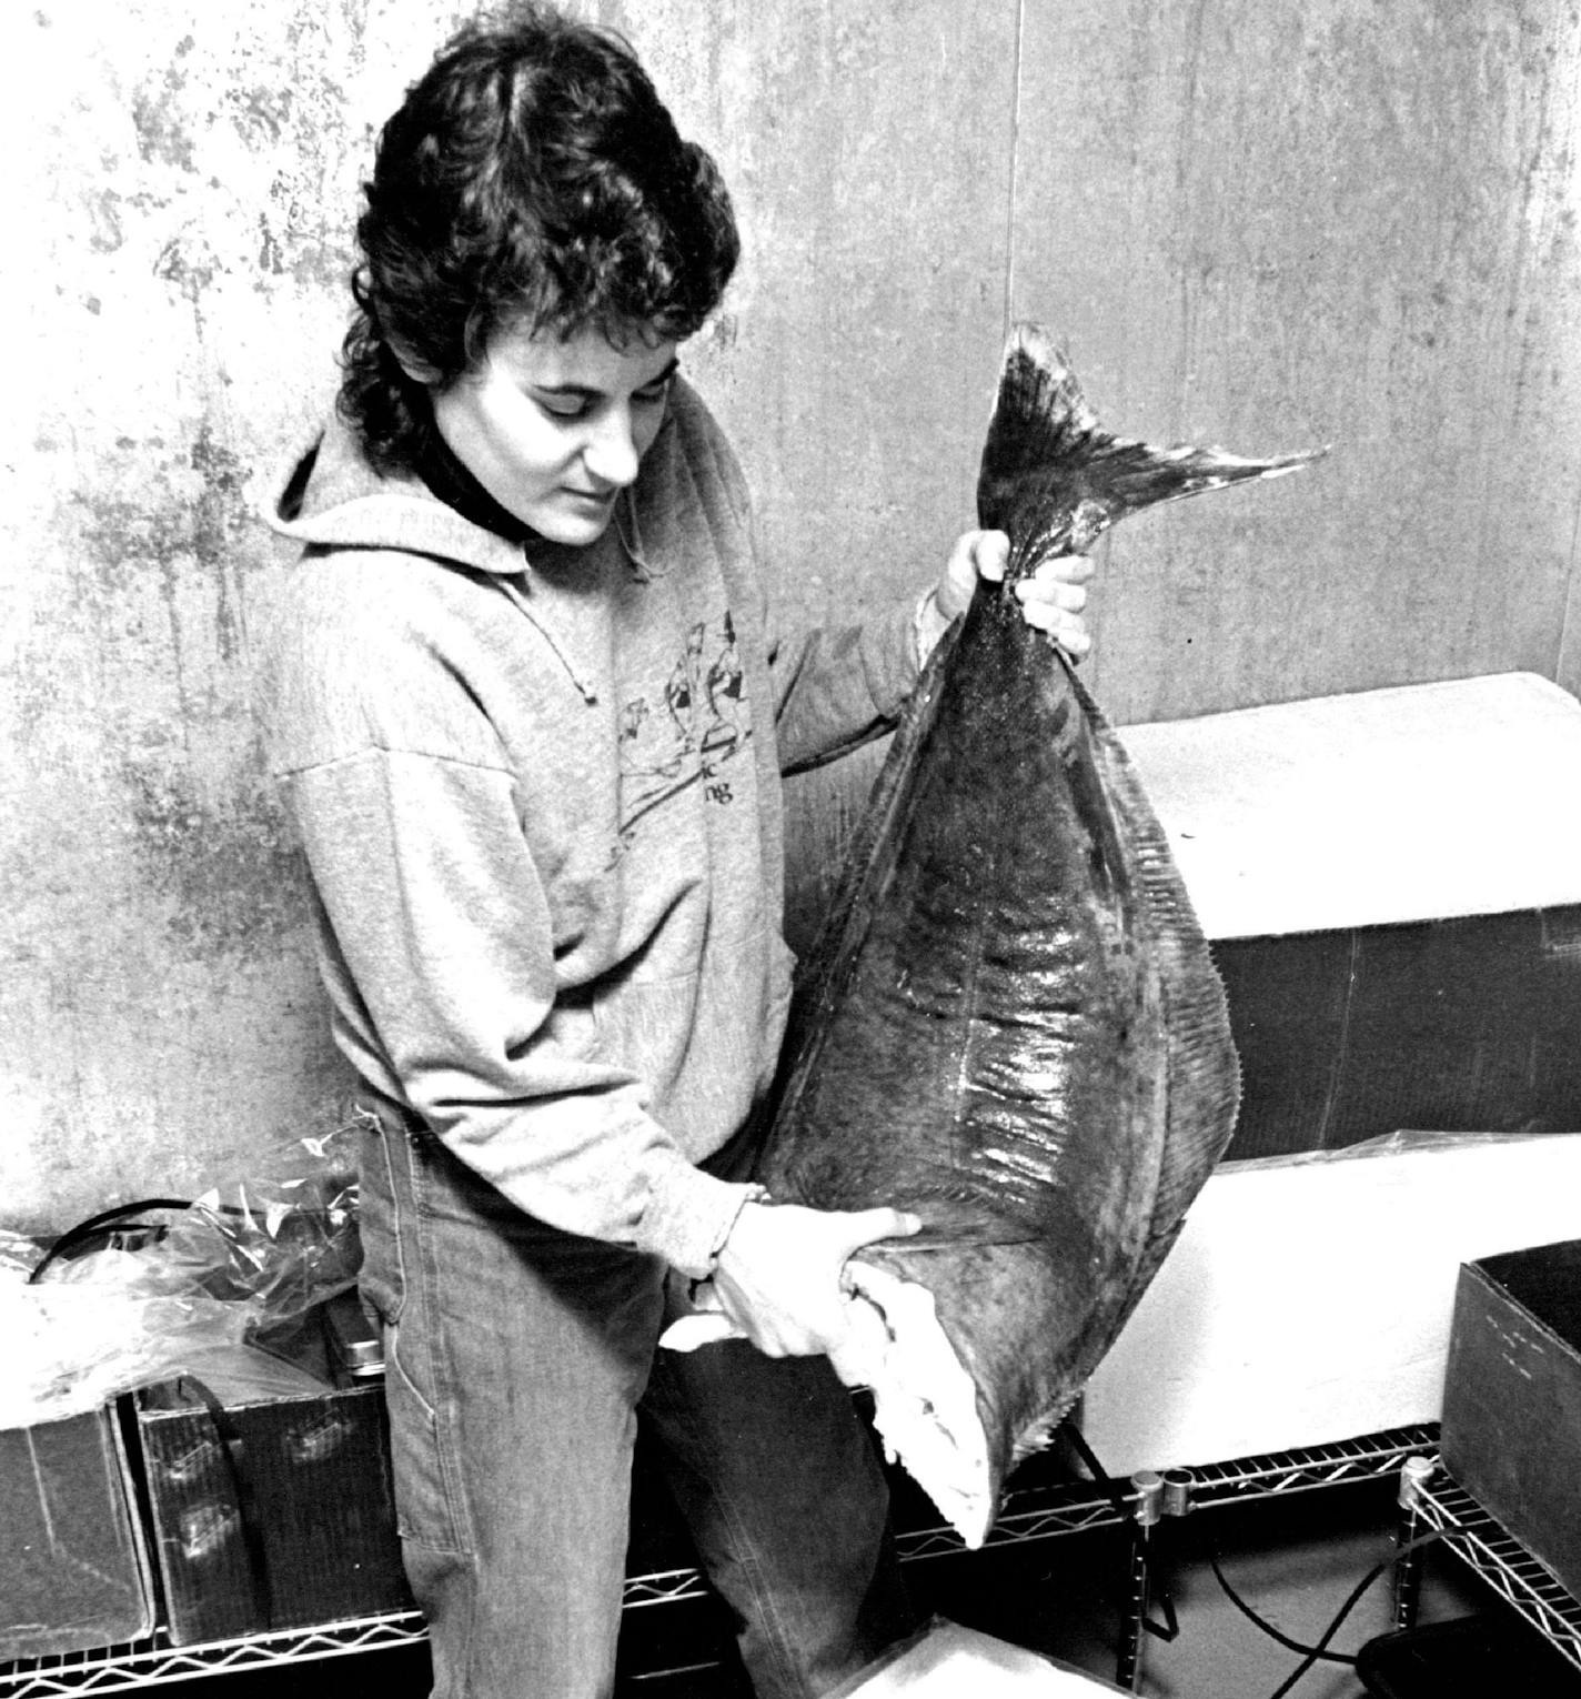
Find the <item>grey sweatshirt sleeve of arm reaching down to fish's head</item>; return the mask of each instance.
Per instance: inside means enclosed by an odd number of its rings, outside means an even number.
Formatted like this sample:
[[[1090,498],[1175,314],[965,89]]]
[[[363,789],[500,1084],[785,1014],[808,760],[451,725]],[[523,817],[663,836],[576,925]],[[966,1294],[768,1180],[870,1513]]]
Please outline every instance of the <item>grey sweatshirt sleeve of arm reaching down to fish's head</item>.
[[[365,748],[287,793],[367,1070],[387,1062],[385,1089],[520,1208],[706,1273],[752,1193],[696,1169],[599,1055],[591,1008],[557,999],[509,775]]]

